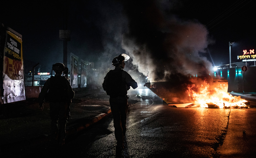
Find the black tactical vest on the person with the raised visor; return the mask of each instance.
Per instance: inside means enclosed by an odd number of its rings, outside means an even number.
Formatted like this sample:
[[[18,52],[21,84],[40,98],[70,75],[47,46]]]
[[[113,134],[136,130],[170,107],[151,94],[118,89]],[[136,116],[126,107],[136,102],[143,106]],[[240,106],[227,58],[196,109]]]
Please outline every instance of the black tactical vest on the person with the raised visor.
[[[107,78],[107,95],[124,96],[127,95],[127,85],[123,81],[122,73],[124,70],[110,70]]]

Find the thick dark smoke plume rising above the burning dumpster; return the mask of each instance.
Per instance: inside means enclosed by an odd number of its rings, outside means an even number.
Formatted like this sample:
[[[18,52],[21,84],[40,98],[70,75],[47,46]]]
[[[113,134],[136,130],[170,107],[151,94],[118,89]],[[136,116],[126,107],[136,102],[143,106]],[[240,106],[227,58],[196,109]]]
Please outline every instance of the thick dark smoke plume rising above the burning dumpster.
[[[122,47],[150,81],[209,76],[212,65],[199,55],[208,45],[205,26],[196,20],[182,20],[170,14],[173,5],[162,2],[147,0],[124,4],[129,30],[123,34]]]

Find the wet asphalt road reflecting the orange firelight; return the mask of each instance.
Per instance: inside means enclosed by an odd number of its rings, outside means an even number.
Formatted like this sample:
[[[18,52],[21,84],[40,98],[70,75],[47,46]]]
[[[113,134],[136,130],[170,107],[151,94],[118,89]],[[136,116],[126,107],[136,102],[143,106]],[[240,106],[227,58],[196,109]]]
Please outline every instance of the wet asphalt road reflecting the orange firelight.
[[[135,97],[140,94],[141,98]],[[27,157],[255,157],[253,109],[175,108],[148,89],[129,92],[125,149],[115,149],[110,116],[67,139],[27,149]]]

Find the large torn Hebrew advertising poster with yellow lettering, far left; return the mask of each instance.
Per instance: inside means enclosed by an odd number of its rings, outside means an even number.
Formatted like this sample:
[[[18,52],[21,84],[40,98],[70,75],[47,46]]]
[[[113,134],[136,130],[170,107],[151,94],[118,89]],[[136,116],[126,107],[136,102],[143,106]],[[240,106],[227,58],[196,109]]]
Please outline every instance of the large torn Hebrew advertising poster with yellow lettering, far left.
[[[25,100],[22,38],[6,31],[3,58],[4,103]]]

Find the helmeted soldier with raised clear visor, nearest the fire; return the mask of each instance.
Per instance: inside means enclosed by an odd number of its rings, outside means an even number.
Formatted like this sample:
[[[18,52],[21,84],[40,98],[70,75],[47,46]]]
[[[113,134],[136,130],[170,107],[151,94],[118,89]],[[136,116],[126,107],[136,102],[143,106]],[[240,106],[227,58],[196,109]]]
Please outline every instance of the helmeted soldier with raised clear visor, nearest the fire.
[[[115,66],[114,70],[110,70],[102,83],[103,89],[107,95],[110,96],[109,104],[114,120],[115,138],[117,141],[116,148],[124,148],[124,136],[126,132],[126,115],[128,109],[127,90],[132,86],[133,89],[137,88],[137,82],[124,71],[125,63],[130,57],[126,54],[116,56],[112,65]]]

